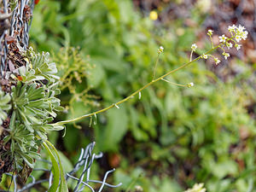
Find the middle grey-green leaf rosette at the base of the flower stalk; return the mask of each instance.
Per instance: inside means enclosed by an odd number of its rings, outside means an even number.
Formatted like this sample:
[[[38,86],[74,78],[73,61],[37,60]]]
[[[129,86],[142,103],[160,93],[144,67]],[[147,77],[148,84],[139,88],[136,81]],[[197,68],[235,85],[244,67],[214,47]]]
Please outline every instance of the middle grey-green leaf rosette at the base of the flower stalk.
[[[26,129],[42,139],[47,139],[47,131],[62,129],[48,123],[61,111],[60,100],[55,97],[54,90],[45,90],[37,83],[18,82],[12,89],[14,113]]]

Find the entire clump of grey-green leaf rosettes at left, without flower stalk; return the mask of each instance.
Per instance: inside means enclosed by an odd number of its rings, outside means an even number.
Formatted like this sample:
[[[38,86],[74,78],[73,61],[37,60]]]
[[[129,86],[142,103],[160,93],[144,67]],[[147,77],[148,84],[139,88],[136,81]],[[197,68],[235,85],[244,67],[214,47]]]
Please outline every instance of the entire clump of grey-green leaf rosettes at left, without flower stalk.
[[[49,53],[35,54],[32,48],[21,53],[25,64],[5,74],[10,91],[0,90],[0,161],[1,172],[16,172],[27,177],[40,157],[42,142],[48,131],[61,130],[62,125],[49,124],[61,111],[55,96],[59,77]],[[26,181],[26,179],[25,179]]]

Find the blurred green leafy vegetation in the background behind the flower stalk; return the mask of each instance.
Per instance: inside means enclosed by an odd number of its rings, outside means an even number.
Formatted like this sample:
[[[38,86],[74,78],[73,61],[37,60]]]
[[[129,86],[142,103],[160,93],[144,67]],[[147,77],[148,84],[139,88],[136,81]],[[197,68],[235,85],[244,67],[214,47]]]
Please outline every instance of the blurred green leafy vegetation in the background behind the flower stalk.
[[[67,111],[59,119],[107,107],[142,87],[152,79],[160,45],[165,53],[157,75],[189,61],[191,44],[206,30],[199,27],[204,10],[195,6],[195,26],[185,27],[179,18],[167,24],[150,20],[127,0],[40,1],[30,38],[32,47],[54,55],[60,70]],[[207,38],[200,42],[200,53],[211,46]],[[256,191],[253,69],[236,59],[218,67],[239,73],[223,82],[204,62],[194,63],[168,77],[194,82],[193,88],[159,82],[141,100],[98,115],[91,128],[84,119],[67,125],[65,137],[49,137],[70,160],[95,140],[105,153],[95,174],[117,167],[113,183],[123,185],[115,191],[140,185],[143,191],[176,192],[194,183],[205,183],[209,192]]]

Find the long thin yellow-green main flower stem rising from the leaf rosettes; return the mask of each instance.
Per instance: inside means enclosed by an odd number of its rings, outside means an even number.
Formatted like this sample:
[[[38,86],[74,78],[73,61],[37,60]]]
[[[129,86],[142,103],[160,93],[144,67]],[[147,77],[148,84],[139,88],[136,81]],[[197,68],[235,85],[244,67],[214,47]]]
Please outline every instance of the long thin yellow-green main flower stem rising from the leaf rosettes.
[[[234,36],[231,37],[231,38],[234,38]],[[229,39],[227,39],[227,40],[230,40],[231,38],[229,38]],[[222,43],[222,44],[224,44],[224,43]],[[212,49],[210,49],[209,51],[207,51],[207,53],[205,53],[205,55],[209,54],[210,52],[212,52],[212,51],[215,50],[215,49],[218,49],[222,44],[218,44],[218,46],[213,47]],[[158,58],[159,58],[159,57],[158,57]],[[121,104],[121,103],[123,103],[123,102],[128,101],[129,99],[131,99],[133,96],[137,95],[137,94],[138,94],[139,92],[141,92],[142,90],[145,90],[145,89],[146,89],[148,86],[150,86],[151,84],[154,84],[154,83],[156,83],[156,82],[158,82],[158,81],[160,81],[160,80],[166,78],[166,76],[168,76],[168,75],[170,75],[170,74],[172,74],[172,73],[175,73],[175,72],[177,72],[178,70],[181,70],[183,67],[187,67],[187,66],[189,66],[191,63],[193,63],[193,62],[195,62],[195,61],[198,61],[198,60],[200,60],[200,59],[201,59],[201,55],[198,56],[198,57],[196,57],[194,60],[189,61],[189,62],[183,64],[182,66],[177,67],[176,69],[173,69],[172,71],[170,71],[170,72],[168,72],[168,73],[166,73],[166,74],[160,76],[159,78],[153,79],[151,82],[149,82],[148,84],[145,84],[145,85],[144,85],[142,88],[140,88],[139,90],[136,90],[135,92],[133,92],[130,96],[125,97],[125,99],[122,99],[122,100],[119,101],[119,102],[113,103],[112,105],[108,106],[107,108],[102,108],[101,110],[98,110],[98,111],[93,112],[93,113],[84,114],[84,115],[82,115],[82,116],[80,116],[80,117],[78,117],[78,118],[67,119],[67,120],[59,121],[59,122],[55,123],[54,125],[65,125],[65,124],[68,124],[68,123],[73,123],[73,122],[75,122],[75,121],[78,121],[78,120],[81,120],[81,119],[85,119],[85,118],[91,117],[91,116],[93,116],[93,115],[96,116],[96,114],[102,113],[102,112],[105,112],[105,111],[108,111],[108,109],[110,109],[110,108],[116,108],[117,105],[119,105],[119,104]],[[158,59],[157,59],[157,61],[158,61]],[[154,67],[154,74],[155,74],[156,65],[157,65],[157,62],[156,62],[155,67]],[[153,77],[154,77],[154,76],[153,76]]]

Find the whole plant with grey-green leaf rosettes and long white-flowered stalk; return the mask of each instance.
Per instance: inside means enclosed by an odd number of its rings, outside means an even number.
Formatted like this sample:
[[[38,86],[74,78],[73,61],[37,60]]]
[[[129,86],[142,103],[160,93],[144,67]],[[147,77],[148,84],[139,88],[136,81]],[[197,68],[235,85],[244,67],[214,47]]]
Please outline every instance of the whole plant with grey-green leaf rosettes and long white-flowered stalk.
[[[42,53],[42,55],[35,54],[32,49],[28,49],[23,53],[21,52],[20,54],[23,54],[23,56],[26,58],[26,64],[16,68],[13,73],[9,74],[8,80],[12,82],[12,84],[15,84],[11,88],[11,93],[4,94],[1,92],[1,96],[3,97],[3,104],[1,105],[2,107],[0,111],[2,114],[2,123],[3,120],[8,122],[7,113],[9,113],[10,117],[9,125],[5,125],[5,127],[3,127],[3,152],[1,153],[1,159],[5,160],[6,162],[7,160],[11,162],[6,163],[8,167],[5,169],[7,172],[18,172],[20,177],[23,178],[25,182],[33,168],[34,161],[39,157],[39,150],[42,143],[44,143],[44,147],[48,149],[53,163],[60,161],[55,148],[47,141],[47,131],[61,130],[64,128],[63,125],[65,124],[87,117],[90,117],[91,120],[92,118],[95,118],[96,121],[96,114],[105,112],[110,108],[119,108],[119,104],[128,101],[137,94],[138,98],[140,99],[141,92],[144,89],[160,80],[164,80],[171,84],[176,84],[164,78],[200,59],[207,59],[211,56],[216,64],[218,64],[220,62],[219,59],[210,53],[215,49],[222,49],[224,58],[227,59],[230,55],[226,53],[224,47],[230,49],[232,48],[233,44],[235,44],[234,46],[236,49],[240,49],[241,45],[237,43],[241,40],[241,38],[244,40],[247,38],[247,31],[244,30],[245,28],[243,26],[229,26],[229,31],[231,34],[230,38],[226,38],[224,35],[220,36],[220,44],[215,47],[212,44],[212,49],[207,51],[207,53],[196,57],[194,60],[192,60],[192,54],[195,52],[196,45],[193,44],[191,47],[192,51],[190,61],[183,64],[181,67],[160,76],[159,78],[155,78],[158,63],[157,59],[154,66],[152,81],[144,85],[141,89],[132,93],[131,96],[127,96],[120,102],[113,103],[108,108],[103,108],[94,113],[88,113],[79,118],[60,121],[55,124],[50,124],[50,122],[53,120],[53,118],[55,118],[55,112],[61,111],[60,100],[55,97],[55,95],[60,93],[60,90],[57,89],[59,78],[55,75],[55,73],[57,73],[55,63],[49,62],[48,53]],[[211,38],[212,30],[209,30],[207,34]],[[158,57],[163,50],[163,47],[158,49]],[[187,85],[177,85],[191,87],[194,84],[189,83]],[[55,181],[49,190],[67,190],[61,165],[54,163],[53,167],[55,170]],[[59,179],[57,179],[59,177],[61,177],[60,188],[58,187]]]

